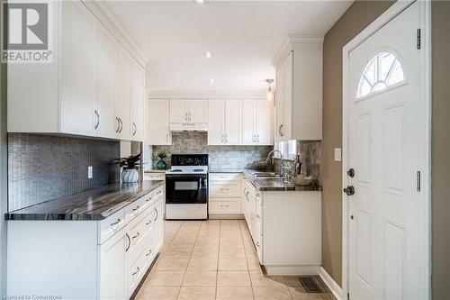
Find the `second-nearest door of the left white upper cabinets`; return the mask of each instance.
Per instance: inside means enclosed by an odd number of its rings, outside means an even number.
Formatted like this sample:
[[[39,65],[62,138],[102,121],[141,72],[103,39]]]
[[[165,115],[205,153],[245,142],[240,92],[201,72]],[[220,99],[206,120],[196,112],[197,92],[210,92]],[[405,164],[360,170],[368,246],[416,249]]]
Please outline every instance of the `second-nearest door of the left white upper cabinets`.
[[[98,28],[98,114],[100,123],[97,135],[104,138],[115,138],[120,129],[116,119],[115,104],[117,89],[117,49],[118,42],[103,24]]]

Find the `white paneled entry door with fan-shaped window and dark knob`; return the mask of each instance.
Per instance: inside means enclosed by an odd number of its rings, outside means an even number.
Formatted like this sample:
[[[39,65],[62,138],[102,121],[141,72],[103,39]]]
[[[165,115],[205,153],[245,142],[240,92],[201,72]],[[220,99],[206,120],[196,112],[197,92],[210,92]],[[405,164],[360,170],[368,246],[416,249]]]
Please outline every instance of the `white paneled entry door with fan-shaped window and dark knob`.
[[[426,101],[419,3],[349,53],[351,299],[426,299]],[[348,195],[348,194],[347,194]]]

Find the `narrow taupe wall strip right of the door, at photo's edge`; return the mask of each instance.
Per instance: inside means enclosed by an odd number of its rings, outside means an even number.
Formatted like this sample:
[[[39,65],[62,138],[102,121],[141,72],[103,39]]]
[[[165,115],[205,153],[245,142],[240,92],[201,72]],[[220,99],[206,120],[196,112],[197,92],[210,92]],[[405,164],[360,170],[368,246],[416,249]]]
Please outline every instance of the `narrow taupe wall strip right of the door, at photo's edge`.
[[[433,299],[450,292],[450,2],[432,4],[432,259]]]

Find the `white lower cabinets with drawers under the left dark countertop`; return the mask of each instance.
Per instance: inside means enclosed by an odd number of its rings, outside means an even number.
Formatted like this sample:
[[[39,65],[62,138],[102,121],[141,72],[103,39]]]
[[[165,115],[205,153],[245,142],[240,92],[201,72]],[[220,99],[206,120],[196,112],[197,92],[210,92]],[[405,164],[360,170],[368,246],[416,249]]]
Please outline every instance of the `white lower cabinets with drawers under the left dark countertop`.
[[[130,299],[162,247],[164,189],[101,221],[9,222],[7,295]]]

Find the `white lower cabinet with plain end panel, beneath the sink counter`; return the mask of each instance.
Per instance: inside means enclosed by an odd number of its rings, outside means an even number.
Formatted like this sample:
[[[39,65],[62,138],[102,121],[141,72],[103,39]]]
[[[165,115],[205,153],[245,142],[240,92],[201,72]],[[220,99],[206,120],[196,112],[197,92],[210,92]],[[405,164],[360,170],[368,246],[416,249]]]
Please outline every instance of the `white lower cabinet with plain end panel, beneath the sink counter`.
[[[243,214],[268,275],[318,275],[321,192],[259,191],[244,177]]]

